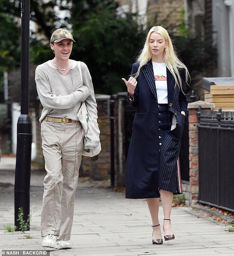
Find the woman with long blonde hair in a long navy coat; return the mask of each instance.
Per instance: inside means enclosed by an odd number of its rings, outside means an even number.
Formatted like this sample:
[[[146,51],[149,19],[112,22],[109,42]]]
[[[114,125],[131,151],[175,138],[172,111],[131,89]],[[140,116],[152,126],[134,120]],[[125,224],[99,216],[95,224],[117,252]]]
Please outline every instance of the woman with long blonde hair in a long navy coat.
[[[173,194],[182,193],[178,171],[180,138],[187,109],[189,73],[173,50],[168,32],[152,27],[123,81],[128,100],[137,108],[126,164],[126,198],[146,198],[152,219],[152,243],[163,243],[158,219],[159,197],[164,211],[164,239],[172,240]]]

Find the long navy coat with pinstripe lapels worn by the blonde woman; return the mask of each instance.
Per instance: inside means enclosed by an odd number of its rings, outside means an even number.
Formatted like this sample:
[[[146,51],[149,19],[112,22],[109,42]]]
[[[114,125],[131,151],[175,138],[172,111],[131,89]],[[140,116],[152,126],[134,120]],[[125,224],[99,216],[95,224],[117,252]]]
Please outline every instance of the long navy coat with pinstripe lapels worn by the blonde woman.
[[[137,73],[139,63],[134,63],[131,74]],[[178,190],[177,159],[187,109],[186,96],[171,72],[167,72],[168,109],[176,118],[176,127],[165,137],[159,155],[158,100],[152,61],[145,64],[137,77],[133,106],[136,113],[126,163],[126,198],[159,197],[158,187],[174,194]],[[185,88],[185,70],[179,70]]]

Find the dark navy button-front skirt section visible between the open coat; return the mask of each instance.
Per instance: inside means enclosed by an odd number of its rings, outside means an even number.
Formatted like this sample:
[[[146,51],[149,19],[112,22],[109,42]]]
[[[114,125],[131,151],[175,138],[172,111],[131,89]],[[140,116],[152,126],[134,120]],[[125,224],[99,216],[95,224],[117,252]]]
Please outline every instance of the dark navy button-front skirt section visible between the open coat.
[[[168,104],[158,105],[158,121],[159,121],[159,151],[166,137],[171,130],[173,113],[168,110]]]

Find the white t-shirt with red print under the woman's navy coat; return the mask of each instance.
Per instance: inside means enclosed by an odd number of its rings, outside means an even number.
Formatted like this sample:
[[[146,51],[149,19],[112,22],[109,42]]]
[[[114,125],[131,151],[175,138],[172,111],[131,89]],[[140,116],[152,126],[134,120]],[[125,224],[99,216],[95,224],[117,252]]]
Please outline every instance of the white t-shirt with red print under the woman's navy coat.
[[[168,103],[166,64],[152,61],[158,104]]]

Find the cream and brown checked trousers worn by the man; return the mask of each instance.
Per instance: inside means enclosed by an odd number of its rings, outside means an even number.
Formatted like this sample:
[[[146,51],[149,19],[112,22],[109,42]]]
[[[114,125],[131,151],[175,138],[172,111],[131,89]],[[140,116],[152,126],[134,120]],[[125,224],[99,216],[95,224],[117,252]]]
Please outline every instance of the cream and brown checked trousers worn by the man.
[[[83,152],[81,123],[42,121],[42,150],[45,159],[41,235],[69,240],[74,215],[75,191]]]

